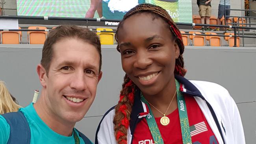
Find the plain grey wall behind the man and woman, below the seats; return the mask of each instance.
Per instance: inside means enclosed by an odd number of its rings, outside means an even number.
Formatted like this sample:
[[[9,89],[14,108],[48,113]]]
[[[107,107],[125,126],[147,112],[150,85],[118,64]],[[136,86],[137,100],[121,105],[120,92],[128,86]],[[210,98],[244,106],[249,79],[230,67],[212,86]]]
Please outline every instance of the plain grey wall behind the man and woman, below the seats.
[[[6,81],[20,105],[32,102],[33,91],[41,89],[36,73],[43,45],[0,44],[0,79]],[[118,101],[124,72],[120,54],[113,45],[102,46],[103,78],[95,102],[76,124],[94,141],[103,114]],[[184,52],[187,79],[211,81],[228,89],[241,114],[247,144],[256,141],[256,48],[192,47]]]

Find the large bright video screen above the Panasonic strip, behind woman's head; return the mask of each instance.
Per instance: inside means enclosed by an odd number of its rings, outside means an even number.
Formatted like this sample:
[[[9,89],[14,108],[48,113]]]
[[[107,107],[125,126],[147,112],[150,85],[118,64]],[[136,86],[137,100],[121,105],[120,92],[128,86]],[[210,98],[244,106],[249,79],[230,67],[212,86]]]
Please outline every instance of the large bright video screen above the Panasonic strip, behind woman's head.
[[[17,14],[122,19],[132,7],[143,3],[163,7],[174,22],[192,23],[191,0],[17,0]]]

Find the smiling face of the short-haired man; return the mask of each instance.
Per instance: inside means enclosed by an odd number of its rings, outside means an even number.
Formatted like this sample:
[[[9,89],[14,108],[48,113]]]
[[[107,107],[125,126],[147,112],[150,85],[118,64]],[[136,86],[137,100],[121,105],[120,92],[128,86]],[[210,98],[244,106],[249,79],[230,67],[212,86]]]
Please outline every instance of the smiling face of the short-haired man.
[[[56,42],[44,76],[48,111],[64,122],[80,121],[94,101],[99,66],[95,46],[74,38]]]

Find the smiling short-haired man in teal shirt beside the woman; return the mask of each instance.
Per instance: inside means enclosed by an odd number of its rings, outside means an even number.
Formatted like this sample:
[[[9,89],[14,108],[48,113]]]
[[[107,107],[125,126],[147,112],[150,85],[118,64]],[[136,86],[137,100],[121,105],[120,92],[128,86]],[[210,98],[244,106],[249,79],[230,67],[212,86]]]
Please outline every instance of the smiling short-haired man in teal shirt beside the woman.
[[[101,63],[100,40],[92,31],[77,26],[59,26],[50,31],[37,65],[41,96],[36,103],[19,109],[30,129],[28,143],[85,144],[74,126],[95,99],[102,77]],[[20,143],[20,137],[16,142],[11,140],[8,122],[0,115],[0,144]]]

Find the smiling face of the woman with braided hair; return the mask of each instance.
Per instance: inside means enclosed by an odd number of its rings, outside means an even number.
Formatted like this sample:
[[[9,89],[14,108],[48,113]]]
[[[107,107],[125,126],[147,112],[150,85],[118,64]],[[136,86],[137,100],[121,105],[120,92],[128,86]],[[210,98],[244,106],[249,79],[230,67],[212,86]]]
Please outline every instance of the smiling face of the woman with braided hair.
[[[180,51],[166,22],[137,13],[124,21],[118,36],[122,68],[139,89],[155,95],[169,88]]]

